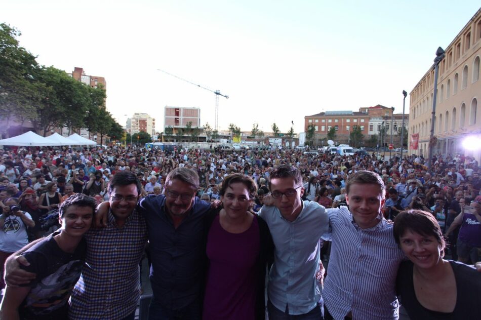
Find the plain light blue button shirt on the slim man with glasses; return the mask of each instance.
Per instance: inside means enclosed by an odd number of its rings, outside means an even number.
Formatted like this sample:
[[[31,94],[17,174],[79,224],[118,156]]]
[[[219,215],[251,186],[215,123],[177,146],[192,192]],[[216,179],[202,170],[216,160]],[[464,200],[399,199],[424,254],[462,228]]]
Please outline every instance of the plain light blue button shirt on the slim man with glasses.
[[[269,226],[274,241],[274,264],[269,272],[268,297],[279,310],[298,315],[311,311],[322,289],[315,273],[319,269],[319,238],[329,230],[323,206],[304,201],[293,222],[283,218],[276,207],[263,206],[259,212]]]

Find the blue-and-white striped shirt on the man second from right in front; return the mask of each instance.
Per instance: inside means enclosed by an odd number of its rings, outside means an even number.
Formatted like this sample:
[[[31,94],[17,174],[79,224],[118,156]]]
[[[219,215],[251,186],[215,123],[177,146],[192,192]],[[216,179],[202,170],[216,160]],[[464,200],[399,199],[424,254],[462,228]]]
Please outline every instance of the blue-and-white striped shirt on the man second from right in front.
[[[392,235],[392,224],[361,229],[347,207],[328,209],[332,249],[323,291],[334,319],[349,311],[354,319],[397,319],[395,281],[404,254]]]

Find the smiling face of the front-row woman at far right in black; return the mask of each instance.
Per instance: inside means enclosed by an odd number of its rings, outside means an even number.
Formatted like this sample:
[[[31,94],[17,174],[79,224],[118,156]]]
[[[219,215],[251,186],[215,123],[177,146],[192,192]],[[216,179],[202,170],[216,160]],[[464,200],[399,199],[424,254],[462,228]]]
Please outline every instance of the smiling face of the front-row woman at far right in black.
[[[442,259],[443,247],[433,235],[422,235],[407,229],[399,238],[404,254],[416,267],[430,269]]]

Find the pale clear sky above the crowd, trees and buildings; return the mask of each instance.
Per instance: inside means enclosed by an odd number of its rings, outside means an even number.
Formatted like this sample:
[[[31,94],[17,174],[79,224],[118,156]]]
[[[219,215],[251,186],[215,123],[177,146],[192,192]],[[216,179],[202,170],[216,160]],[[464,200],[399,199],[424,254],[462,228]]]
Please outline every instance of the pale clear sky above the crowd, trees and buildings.
[[[304,130],[304,116],[408,94],[479,9],[479,0],[2,0],[0,22],[43,65],[103,76],[107,109],[164,128],[164,107],[199,107],[219,130]],[[406,113],[409,112],[409,95]]]

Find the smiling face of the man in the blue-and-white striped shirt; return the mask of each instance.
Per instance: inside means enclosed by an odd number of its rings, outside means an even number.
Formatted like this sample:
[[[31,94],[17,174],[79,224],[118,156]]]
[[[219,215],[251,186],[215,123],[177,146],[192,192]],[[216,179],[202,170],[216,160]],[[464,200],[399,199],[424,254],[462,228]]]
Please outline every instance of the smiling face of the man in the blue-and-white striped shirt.
[[[378,224],[385,198],[377,184],[354,183],[349,187],[346,202],[354,221],[360,228],[366,229]]]

